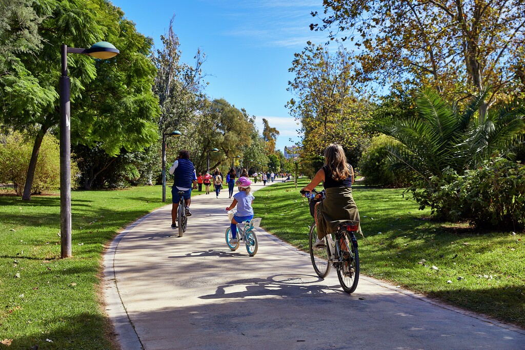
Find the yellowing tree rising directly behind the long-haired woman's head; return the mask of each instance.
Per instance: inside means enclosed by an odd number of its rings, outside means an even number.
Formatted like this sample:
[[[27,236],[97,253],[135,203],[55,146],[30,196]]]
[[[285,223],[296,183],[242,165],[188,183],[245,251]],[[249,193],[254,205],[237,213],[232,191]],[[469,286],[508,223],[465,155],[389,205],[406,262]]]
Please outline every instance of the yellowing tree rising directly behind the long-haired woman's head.
[[[348,52],[340,46],[331,55],[327,48],[309,42],[300,54],[295,54],[289,71],[295,73],[295,78],[288,82],[288,91],[296,98],[287,107],[301,121],[303,166],[313,168],[332,142],[346,150],[358,146],[363,138],[359,120],[369,107],[355,96]]]

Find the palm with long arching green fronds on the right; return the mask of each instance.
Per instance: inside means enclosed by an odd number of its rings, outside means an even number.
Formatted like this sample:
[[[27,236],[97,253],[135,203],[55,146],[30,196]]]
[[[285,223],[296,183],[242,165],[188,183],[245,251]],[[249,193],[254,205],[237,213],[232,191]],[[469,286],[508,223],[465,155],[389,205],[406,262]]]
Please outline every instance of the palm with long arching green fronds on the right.
[[[418,93],[416,116],[374,120],[375,131],[401,142],[388,147],[392,169],[428,179],[447,167],[463,173],[495,152],[506,153],[513,137],[523,131],[525,109],[517,102],[502,104],[481,122],[478,110],[486,96],[487,92],[461,109],[425,89]]]

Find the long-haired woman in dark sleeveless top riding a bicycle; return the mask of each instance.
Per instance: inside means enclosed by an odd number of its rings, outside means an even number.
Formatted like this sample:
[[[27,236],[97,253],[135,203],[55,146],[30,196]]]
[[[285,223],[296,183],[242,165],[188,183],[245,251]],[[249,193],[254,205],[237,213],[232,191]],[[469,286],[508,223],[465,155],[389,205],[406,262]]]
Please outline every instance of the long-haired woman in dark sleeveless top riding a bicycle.
[[[359,225],[359,211],[352,197],[354,172],[346,161],[343,147],[332,143],[324,151],[324,166],[319,169],[312,181],[303,190],[312,192],[323,182],[325,199],[316,204],[314,211],[317,225],[315,248],[323,246],[323,238],[337,230],[344,221]]]

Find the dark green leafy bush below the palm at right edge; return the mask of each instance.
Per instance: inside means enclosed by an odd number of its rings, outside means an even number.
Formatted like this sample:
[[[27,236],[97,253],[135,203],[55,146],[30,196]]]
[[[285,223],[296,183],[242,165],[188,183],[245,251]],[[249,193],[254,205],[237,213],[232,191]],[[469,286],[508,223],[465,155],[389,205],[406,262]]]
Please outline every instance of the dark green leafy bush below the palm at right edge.
[[[439,218],[469,221],[478,227],[522,230],[525,227],[525,166],[492,158],[463,176],[446,169],[423,190],[411,188],[421,208]]]

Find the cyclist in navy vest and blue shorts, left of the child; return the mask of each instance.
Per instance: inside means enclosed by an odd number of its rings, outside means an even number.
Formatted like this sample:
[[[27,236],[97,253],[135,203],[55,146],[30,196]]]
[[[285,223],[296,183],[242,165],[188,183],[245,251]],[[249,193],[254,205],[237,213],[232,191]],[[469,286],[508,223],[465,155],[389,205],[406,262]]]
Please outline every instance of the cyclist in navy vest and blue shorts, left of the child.
[[[192,187],[197,186],[197,175],[195,174],[195,166],[190,161],[190,152],[181,150],[178,152],[178,158],[170,168],[170,174],[175,176],[173,187],[171,188],[171,195],[173,197],[171,208],[171,228],[177,228],[175,222],[177,222],[177,209],[178,202],[181,200],[181,196],[178,192],[183,191],[184,204],[186,215],[191,216],[190,204],[192,202]]]

